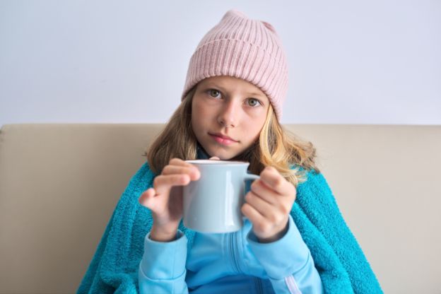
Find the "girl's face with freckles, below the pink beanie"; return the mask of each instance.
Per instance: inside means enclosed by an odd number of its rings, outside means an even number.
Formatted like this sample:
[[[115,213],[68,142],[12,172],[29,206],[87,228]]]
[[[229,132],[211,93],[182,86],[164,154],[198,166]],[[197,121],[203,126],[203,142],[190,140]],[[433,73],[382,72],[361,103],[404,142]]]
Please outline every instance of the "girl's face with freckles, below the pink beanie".
[[[205,78],[192,101],[192,127],[210,156],[228,160],[259,138],[269,100],[252,83],[231,76]]]

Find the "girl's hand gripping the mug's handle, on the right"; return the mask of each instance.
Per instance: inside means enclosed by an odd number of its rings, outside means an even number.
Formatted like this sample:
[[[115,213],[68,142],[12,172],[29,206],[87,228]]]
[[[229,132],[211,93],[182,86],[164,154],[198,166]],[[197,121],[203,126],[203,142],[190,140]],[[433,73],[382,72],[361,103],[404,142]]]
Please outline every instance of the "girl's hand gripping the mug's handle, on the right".
[[[245,195],[242,213],[252,222],[259,242],[273,242],[286,233],[297,191],[274,167],[265,167]]]

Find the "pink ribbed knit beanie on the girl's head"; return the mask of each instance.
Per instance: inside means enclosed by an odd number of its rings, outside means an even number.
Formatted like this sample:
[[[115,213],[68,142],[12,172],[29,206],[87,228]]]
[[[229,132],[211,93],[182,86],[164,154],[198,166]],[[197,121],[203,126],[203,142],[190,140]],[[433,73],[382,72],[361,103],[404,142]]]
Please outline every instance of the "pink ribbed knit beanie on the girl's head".
[[[273,26],[230,10],[206,33],[192,55],[182,100],[199,81],[234,76],[249,81],[269,98],[278,121],[288,90],[288,64]]]

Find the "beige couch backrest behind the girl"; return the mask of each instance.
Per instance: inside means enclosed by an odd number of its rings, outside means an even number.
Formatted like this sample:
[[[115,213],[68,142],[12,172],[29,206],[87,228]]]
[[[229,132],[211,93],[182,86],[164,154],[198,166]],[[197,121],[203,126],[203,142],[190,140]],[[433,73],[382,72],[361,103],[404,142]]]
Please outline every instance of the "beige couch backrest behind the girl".
[[[0,293],[73,293],[162,124],[0,131]],[[287,125],[386,293],[441,293],[441,126]]]

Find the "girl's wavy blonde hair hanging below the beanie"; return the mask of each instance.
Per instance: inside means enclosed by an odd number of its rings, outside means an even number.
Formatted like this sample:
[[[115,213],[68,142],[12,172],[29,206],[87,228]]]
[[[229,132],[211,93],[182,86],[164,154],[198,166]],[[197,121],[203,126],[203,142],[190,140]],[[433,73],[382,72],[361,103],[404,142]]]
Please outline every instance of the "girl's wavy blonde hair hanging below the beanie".
[[[163,131],[158,134],[143,154],[155,174],[159,174],[172,158],[196,159],[197,139],[192,129],[192,101],[196,86],[187,93],[172,114]],[[269,105],[259,139],[247,151],[233,160],[249,162],[249,171],[259,175],[266,166],[275,167],[294,186],[304,182],[305,172],[315,170],[316,149],[278,123],[273,107]]]

